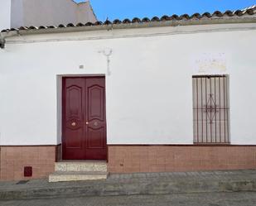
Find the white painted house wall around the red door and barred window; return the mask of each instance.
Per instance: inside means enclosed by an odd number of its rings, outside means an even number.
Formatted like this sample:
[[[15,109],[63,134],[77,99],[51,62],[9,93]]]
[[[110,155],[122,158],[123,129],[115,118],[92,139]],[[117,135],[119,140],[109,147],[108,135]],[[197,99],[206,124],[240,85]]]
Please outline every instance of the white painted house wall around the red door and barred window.
[[[112,49],[111,75],[106,76],[109,144],[192,144],[192,75],[229,74],[231,143],[256,145],[256,24],[228,31],[232,26],[8,39],[6,50],[0,50],[0,144],[59,143],[57,75],[105,74],[102,51]],[[190,33],[195,30],[204,31]],[[60,41],[42,42],[56,38]],[[210,58],[221,66],[213,68]]]

